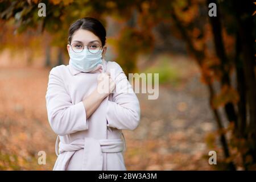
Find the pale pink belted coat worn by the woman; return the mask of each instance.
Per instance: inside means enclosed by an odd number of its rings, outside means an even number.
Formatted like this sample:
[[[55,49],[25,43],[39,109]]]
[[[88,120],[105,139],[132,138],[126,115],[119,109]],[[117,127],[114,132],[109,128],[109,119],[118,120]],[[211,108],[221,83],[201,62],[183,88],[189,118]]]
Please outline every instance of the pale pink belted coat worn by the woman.
[[[103,60],[103,68],[115,81],[115,90],[88,119],[82,98],[96,88],[100,72],[84,73],[71,64],[49,72],[47,114],[58,135],[53,170],[126,170],[122,130],[139,125],[139,101],[118,63]]]

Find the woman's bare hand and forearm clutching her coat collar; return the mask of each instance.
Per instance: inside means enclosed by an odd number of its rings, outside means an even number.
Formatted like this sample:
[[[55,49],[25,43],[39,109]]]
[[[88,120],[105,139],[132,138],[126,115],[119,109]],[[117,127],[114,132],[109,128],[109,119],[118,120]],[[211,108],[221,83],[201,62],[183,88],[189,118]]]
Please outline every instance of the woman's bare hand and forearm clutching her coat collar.
[[[102,100],[113,92],[114,88],[115,82],[110,77],[110,73],[100,73],[97,88],[82,100],[86,110],[86,119],[98,108]]]

